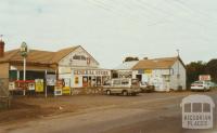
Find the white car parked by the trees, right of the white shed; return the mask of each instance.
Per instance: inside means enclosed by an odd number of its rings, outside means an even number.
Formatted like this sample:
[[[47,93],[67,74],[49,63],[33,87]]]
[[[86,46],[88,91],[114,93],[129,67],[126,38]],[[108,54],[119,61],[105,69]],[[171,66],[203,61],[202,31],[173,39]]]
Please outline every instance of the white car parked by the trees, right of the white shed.
[[[209,91],[212,88],[210,81],[195,81],[191,84],[192,91]]]

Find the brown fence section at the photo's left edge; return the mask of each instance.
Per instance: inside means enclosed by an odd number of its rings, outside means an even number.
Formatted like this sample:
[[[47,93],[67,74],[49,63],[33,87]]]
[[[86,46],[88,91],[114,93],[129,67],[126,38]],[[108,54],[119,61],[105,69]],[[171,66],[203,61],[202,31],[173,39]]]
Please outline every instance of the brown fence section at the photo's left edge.
[[[0,79],[0,109],[9,108],[10,104],[9,79]]]

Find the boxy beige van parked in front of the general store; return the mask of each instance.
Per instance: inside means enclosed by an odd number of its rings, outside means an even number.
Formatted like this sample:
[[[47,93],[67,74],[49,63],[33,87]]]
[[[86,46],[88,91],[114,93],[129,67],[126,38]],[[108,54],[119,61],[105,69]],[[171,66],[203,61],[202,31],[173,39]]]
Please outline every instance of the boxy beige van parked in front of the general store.
[[[137,79],[112,79],[110,85],[104,85],[104,93],[137,95],[140,93],[140,85]]]

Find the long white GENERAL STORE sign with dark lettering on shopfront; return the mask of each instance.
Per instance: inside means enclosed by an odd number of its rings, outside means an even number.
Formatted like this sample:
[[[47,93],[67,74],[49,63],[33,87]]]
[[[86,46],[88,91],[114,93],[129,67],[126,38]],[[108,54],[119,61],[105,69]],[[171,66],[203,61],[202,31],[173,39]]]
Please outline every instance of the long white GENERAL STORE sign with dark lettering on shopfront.
[[[82,75],[82,76],[110,76],[110,70],[74,70],[74,75]]]

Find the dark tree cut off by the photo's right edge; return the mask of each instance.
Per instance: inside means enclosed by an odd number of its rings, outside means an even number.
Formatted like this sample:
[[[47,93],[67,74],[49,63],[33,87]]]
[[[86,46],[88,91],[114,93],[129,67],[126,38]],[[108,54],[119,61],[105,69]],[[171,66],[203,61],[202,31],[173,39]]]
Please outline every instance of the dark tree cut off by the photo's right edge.
[[[207,63],[206,72],[210,75],[214,82],[217,82],[217,59],[212,59]]]

